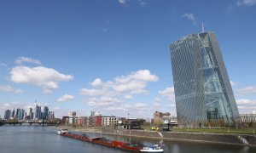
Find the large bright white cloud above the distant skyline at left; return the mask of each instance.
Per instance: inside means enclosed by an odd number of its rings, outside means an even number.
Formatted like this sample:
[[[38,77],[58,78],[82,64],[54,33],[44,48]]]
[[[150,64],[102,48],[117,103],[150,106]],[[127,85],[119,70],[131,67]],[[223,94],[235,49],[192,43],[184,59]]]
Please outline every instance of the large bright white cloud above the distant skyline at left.
[[[26,83],[44,88],[44,93],[52,93],[59,88],[59,82],[73,79],[72,75],[64,75],[54,69],[44,66],[15,66],[10,71],[10,80],[16,83]]]

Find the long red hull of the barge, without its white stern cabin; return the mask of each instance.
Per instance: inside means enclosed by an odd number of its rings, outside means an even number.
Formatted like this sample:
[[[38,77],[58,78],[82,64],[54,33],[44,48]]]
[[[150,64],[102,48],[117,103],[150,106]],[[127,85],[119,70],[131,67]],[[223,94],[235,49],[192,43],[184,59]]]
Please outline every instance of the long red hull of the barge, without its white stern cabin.
[[[139,146],[131,146],[129,143],[120,142],[120,141],[113,141],[105,138],[95,138],[91,139],[84,135],[74,134],[74,133],[61,133],[61,136],[69,137],[72,139],[79,139],[85,142],[90,142],[94,144],[102,144],[111,148],[116,148],[120,150],[131,150],[134,152],[140,152],[142,147]]]

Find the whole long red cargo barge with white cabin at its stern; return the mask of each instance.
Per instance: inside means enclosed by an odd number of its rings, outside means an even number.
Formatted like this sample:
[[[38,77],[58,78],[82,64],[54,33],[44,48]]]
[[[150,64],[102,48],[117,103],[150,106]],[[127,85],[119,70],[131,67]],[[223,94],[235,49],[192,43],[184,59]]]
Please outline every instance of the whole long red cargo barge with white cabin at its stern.
[[[96,138],[90,138],[86,134],[76,134],[76,133],[70,133],[67,132],[67,129],[61,129],[57,132],[57,134],[61,136],[65,136],[72,139],[79,139],[85,142],[90,142],[93,144],[102,144],[108,147],[117,148],[120,150],[130,150],[133,152],[163,152],[163,149],[160,147],[145,147],[144,144],[140,143],[125,143],[120,141],[114,141],[111,139],[106,139],[104,137],[96,137]]]

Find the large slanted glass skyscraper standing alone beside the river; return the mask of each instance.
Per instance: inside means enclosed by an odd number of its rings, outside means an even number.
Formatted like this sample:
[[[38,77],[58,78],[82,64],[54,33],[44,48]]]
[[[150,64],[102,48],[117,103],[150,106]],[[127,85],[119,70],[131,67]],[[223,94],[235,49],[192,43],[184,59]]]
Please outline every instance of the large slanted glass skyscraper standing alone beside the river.
[[[179,123],[239,121],[230,79],[213,32],[191,34],[172,42],[171,55]]]

